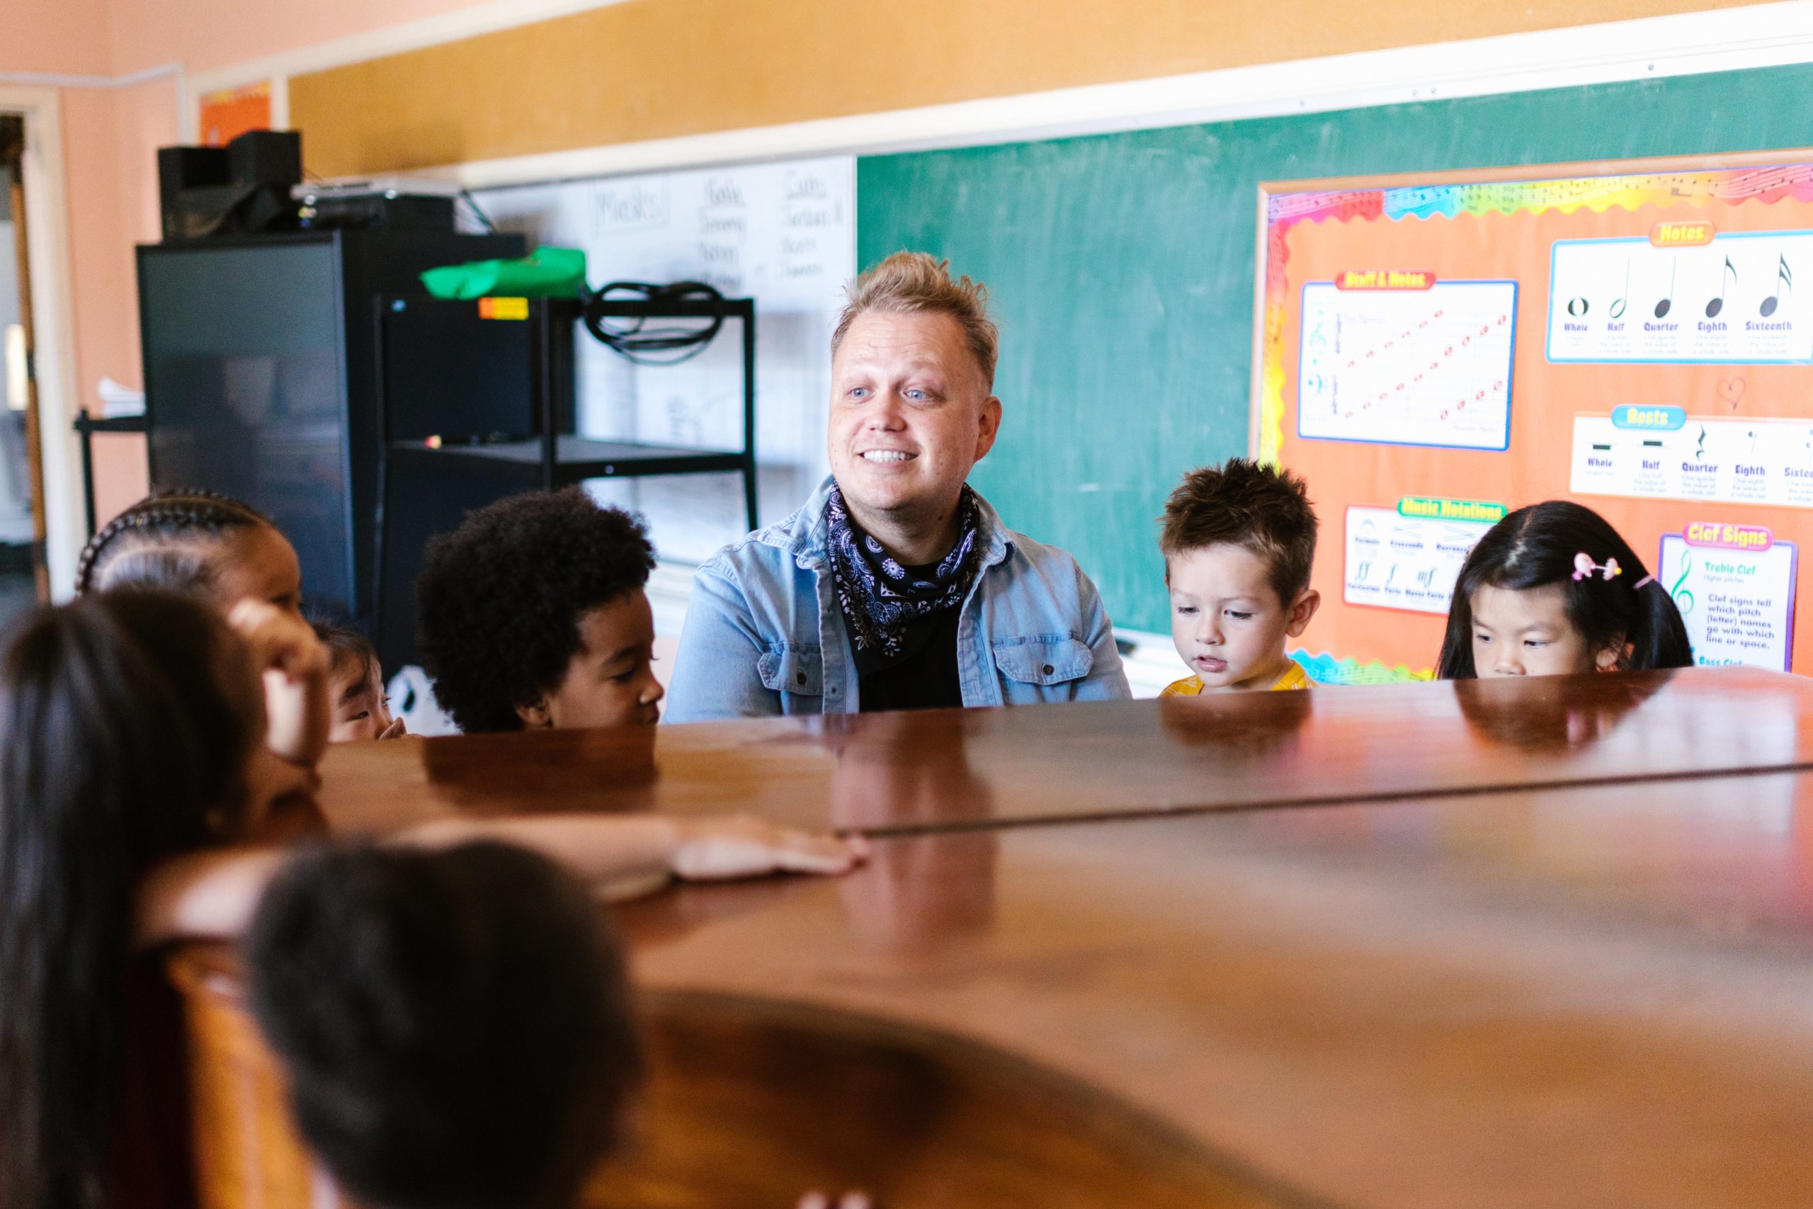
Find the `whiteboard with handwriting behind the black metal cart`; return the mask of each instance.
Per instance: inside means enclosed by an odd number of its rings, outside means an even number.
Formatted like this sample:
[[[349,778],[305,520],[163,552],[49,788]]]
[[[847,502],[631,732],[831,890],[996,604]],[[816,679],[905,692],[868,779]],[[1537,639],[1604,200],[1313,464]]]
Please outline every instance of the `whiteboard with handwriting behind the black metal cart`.
[[[529,245],[584,248],[593,288],[705,281],[756,299],[756,459],[761,522],[785,518],[819,479],[830,332],[856,276],[856,160],[832,156],[645,176],[488,189],[477,201]],[[578,430],[700,448],[742,448],[742,334],[727,323],[696,359],[636,366],[577,337]],[[591,484],[642,511],[664,558],[702,562],[742,537],[736,475]]]

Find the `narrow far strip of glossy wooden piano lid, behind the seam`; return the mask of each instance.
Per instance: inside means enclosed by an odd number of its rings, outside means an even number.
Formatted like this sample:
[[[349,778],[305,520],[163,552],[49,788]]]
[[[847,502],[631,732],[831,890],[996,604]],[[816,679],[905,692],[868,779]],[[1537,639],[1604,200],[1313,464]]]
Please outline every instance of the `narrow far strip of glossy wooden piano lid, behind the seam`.
[[[1813,680],[1750,669],[542,730],[335,747],[346,832],[439,812],[950,825],[1813,767]]]

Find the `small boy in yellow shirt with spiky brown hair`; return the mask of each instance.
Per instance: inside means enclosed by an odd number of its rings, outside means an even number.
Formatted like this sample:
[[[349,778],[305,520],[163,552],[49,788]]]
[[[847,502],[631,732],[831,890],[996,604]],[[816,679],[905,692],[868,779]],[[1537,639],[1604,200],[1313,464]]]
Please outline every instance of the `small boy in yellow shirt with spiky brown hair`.
[[[1304,480],[1244,457],[1204,466],[1171,491],[1162,524],[1171,642],[1197,674],[1159,696],[1313,687],[1284,653],[1322,604],[1309,587],[1316,511]]]

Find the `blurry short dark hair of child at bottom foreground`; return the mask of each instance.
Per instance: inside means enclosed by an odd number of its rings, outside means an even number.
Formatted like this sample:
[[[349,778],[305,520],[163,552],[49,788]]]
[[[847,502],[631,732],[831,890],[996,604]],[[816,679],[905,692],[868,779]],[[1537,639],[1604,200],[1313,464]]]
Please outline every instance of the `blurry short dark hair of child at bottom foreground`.
[[[296,1126],[384,1209],[571,1209],[642,1078],[622,953],[542,856],[323,848],[245,939]]]

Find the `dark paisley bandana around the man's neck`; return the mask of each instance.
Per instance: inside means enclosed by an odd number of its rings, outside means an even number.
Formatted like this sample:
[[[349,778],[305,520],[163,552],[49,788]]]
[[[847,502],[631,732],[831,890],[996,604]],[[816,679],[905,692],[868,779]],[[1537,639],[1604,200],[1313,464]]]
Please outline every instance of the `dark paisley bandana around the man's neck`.
[[[957,498],[957,511],[963,515],[957,544],[932,567],[930,578],[923,578],[890,558],[881,542],[850,520],[843,491],[832,484],[825,502],[830,571],[858,653],[894,658],[905,649],[914,622],[963,604],[983,555],[975,493],[968,486]]]

